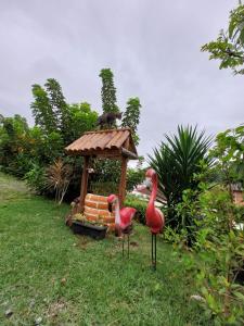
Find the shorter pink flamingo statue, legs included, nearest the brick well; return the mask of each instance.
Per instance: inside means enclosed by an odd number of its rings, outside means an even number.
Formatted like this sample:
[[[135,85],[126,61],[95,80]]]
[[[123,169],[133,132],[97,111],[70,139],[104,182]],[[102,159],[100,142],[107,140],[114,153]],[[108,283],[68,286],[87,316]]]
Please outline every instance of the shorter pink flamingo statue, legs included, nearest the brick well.
[[[113,204],[115,205],[115,231],[120,236],[123,234],[123,256],[125,235],[128,238],[128,256],[130,248],[130,233],[132,229],[132,218],[137,212],[133,208],[123,208],[119,210],[119,201],[116,195],[110,195],[107,198],[108,211],[112,212]]]

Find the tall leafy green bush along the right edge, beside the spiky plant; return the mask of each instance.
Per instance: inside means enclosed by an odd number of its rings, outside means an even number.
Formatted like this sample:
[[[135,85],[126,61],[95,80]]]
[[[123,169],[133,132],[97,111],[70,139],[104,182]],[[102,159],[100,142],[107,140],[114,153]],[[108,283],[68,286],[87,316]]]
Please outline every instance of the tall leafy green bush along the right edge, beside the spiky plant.
[[[185,267],[195,273],[200,303],[216,325],[244,323],[244,211],[231,191],[240,181],[236,166],[243,164],[243,131],[240,126],[217,136],[210,171],[222,177],[209,184],[205,173],[195,176],[198,191],[192,197],[191,189],[185,190],[180,203],[182,215],[191,214],[195,221]]]

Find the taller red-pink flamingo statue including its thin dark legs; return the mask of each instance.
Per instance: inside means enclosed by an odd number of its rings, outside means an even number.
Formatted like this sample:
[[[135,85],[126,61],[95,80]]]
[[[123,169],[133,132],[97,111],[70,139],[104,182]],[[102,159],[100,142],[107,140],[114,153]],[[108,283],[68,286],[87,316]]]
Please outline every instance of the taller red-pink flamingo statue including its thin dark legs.
[[[152,192],[146,208],[145,217],[146,225],[151,228],[152,233],[152,266],[156,271],[156,241],[157,234],[160,233],[165,226],[165,216],[160,210],[155,208],[155,200],[157,195],[157,174],[153,168],[149,168],[145,173],[146,186],[152,185]]]

